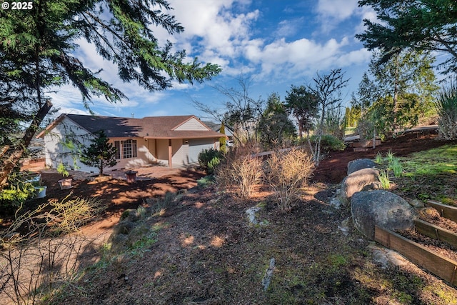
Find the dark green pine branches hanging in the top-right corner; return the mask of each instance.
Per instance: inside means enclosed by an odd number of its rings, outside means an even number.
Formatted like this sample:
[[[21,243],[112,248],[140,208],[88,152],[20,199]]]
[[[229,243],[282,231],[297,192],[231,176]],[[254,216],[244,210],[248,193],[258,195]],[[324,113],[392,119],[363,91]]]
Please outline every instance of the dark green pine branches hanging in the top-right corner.
[[[455,0],[361,0],[376,20],[364,20],[366,31],[356,35],[370,51],[381,50],[381,62],[405,49],[446,54],[444,71],[457,71],[457,2]]]

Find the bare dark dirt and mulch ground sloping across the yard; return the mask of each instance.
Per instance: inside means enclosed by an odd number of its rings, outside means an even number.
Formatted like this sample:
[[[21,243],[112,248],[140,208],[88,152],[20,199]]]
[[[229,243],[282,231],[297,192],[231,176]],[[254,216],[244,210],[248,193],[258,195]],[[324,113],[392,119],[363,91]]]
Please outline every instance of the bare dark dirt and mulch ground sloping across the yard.
[[[278,213],[265,191],[244,202],[214,187],[186,194],[175,209],[149,219],[150,226],[161,229],[148,251],[87,272],[46,304],[457,304],[457,290],[446,284],[439,291],[424,289],[440,280],[412,264],[373,264],[368,241],[339,229],[349,211],[328,204],[346,176],[348,161],[373,159],[378,151],[406,156],[448,143],[438,141],[433,131],[419,131],[368,151],[332,152],[288,214]],[[42,179],[48,186],[46,199],[70,193],[103,199],[107,213],[95,225],[109,233],[125,209],[165,191],[189,189],[202,176],[182,171],[134,184],[74,181],[71,190],[59,189],[59,174],[44,173]],[[267,226],[248,224],[245,211],[256,205],[264,207],[258,219]],[[271,258],[276,267],[265,291],[262,283]]]

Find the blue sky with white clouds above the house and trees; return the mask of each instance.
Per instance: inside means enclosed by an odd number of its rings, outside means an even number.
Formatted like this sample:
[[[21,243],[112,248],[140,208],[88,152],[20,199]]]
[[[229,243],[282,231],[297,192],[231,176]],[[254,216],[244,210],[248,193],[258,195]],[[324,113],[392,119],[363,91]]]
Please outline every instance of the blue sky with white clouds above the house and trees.
[[[350,78],[343,96],[346,101],[357,89],[368,69],[371,53],[354,37],[363,31],[363,19],[375,19],[357,0],[169,0],[171,14],[184,32],[169,36],[163,29],[154,33],[176,49],[186,49],[189,59],[219,64],[219,76],[204,84],[175,84],[173,89],[149,92],[137,84],[125,84],[116,67],[101,59],[93,46],[79,41],[76,53],[93,71],[129,97],[119,104],[94,99],[91,109],[104,116],[207,115],[193,100],[219,108],[226,98],[214,86],[238,89],[236,78],[251,79],[250,96],[266,99],[275,92],[283,100],[291,85],[311,84],[313,76],[341,68]],[[61,113],[88,114],[81,95],[72,86],[51,94]]]

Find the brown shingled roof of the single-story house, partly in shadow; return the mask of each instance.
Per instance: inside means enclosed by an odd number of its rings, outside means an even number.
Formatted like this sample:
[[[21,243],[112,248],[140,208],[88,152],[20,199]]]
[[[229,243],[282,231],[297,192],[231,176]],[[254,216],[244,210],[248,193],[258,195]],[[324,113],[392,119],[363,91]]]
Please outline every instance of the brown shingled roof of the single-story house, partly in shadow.
[[[204,139],[218,138],[218,132],[211,131],[196,116],[146,116],[143,119],[122,118],[114,116],[86,116],[81,114],[62,114],[56,121],[46,127],[54,129],[64,117],[74,121],[91,134],[104,130],[109,138],[141,137],[145,139]],[[187,121],[196,119],[206,130],[176,130]],[[37,137],[44,136],[42,131]]]

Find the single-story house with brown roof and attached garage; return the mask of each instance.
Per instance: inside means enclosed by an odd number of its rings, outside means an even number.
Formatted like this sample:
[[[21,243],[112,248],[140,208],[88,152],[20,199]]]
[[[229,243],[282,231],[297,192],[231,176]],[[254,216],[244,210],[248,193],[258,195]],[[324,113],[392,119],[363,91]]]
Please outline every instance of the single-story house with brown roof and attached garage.
[[[61,114],[36,136],[44,139],[46,166],[55,169],[63,163],[71,169],[98,172],[82,164],[77,151],[89,146],[101,130],[117,149],[118,163],[112,170],[157,163],[169,167],[197,164],[202,150],[219,149],[221,137],[193,115],[134,119]]]

